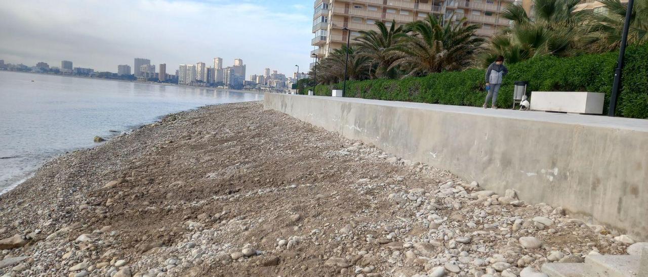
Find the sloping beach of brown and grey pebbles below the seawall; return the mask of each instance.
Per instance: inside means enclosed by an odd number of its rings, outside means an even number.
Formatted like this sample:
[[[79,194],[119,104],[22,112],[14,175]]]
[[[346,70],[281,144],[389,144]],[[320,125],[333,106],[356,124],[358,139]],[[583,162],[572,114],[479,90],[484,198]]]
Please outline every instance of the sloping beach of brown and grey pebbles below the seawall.
[[[0,276],[542,276],[632,241],[501,193],[258,102],[215,105],[0,195]]]

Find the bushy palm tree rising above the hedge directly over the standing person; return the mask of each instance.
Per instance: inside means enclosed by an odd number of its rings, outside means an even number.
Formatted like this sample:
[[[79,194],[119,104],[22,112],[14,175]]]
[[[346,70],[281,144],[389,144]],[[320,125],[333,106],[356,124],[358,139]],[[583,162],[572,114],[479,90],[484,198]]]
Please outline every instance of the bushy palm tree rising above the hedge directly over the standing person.
[[[491,39],[480,54],[481,66],[489,65],[496,56],[504,56],[515,63],[535,56],[572,56],[579,52],[583,32],[581,23],[584,12],[576,11],[580,0],[534,0],[529,17],[520,5],[509,4],[502,17],[513,21]]]

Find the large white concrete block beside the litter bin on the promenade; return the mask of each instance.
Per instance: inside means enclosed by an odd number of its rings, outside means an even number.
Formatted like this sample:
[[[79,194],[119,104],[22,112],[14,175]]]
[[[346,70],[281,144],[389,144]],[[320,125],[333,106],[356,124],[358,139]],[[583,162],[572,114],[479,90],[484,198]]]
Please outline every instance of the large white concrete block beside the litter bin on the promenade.
[[[605,93],[533,91],[531,110],[600,115],[604,99]]]

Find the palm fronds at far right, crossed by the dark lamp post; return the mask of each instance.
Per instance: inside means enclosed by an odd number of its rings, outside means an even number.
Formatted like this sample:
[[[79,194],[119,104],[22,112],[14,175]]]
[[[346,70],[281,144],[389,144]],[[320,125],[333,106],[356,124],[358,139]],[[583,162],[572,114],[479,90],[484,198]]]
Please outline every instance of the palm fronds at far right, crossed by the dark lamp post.
[[[586,17],[583,45],[590,52],[607,52],[621,45],[627,5],[619,0],[601,0],[605,12]],[[632,8],[628,43],[648,42],[648,0],[635,0]]]

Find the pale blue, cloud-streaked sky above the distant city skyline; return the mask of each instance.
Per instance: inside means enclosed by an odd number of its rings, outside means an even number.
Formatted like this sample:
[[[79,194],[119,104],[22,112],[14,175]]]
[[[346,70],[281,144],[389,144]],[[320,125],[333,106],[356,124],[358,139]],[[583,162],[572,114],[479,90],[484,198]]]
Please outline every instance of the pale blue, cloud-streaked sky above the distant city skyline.
[[[133,58],[213,66],[242,58],[250,74],[307,71],[311,0],[1,0],[0,60],[117,72]]]

